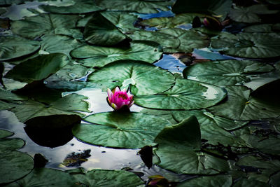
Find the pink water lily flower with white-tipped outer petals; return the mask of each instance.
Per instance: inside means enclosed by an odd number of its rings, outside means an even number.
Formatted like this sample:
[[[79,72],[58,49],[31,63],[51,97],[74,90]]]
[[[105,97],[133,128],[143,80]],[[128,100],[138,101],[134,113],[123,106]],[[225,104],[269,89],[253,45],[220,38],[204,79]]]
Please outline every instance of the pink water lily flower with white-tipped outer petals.
[[[107,102],[116,111],[120,109],[129,109],[130,106],[134,104],[133,95],[125,89],[120,91],[118,86],[113,89],[113,91],[108,88],[107,93]]]

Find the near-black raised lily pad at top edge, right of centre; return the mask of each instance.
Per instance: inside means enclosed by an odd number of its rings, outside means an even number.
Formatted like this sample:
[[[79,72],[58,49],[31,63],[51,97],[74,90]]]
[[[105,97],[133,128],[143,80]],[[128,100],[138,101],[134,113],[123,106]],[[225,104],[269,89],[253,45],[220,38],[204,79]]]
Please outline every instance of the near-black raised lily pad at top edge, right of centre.
[[[219,0],[177,0],[174,6],[172,6],[172,12],[178,13],[203,13],[207,15],[216,15],[225,18],[232,6],[231,0],[219,1]]]

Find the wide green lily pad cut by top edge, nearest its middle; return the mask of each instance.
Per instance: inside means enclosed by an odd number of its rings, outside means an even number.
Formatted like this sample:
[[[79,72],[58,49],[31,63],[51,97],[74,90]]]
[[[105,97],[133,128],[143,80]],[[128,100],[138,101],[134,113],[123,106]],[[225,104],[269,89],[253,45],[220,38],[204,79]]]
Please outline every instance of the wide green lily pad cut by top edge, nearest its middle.
[[[97,0],[97,5],[111,11],[132,11],[137,13],[158,13],[157,9],[169,11],[172,1],[140,1],[140,0]]]

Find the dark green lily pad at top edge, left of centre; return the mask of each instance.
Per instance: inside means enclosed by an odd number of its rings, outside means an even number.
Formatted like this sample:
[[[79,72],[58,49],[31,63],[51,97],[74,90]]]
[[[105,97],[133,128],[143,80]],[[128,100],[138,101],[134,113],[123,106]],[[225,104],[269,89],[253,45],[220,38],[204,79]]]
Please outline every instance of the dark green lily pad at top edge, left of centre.
[[[71,13],[91,13],[95,11],[100,11],[96,4],[93,1],[89,0],[76,0],[75,4],[70,6],[50,6],[50,5],[41,5],[39,6],[45,12],[49,13],[59,13],[59,14],[71,14]]]

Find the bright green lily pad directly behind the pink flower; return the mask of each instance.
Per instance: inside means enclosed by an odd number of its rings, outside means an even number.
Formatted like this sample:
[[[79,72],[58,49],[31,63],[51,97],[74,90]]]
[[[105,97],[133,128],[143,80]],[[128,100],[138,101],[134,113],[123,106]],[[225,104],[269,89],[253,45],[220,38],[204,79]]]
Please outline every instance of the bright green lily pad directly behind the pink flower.
[[[151,76],[153,75],[153,76]],[[158,81],[160,80],[160,81]],[[174,76],[164,69],[141,61],[120,60],[107,64],[87,77],[94,86],[107,90],[128,88],[133,95],[153,95],[174,84]]]

